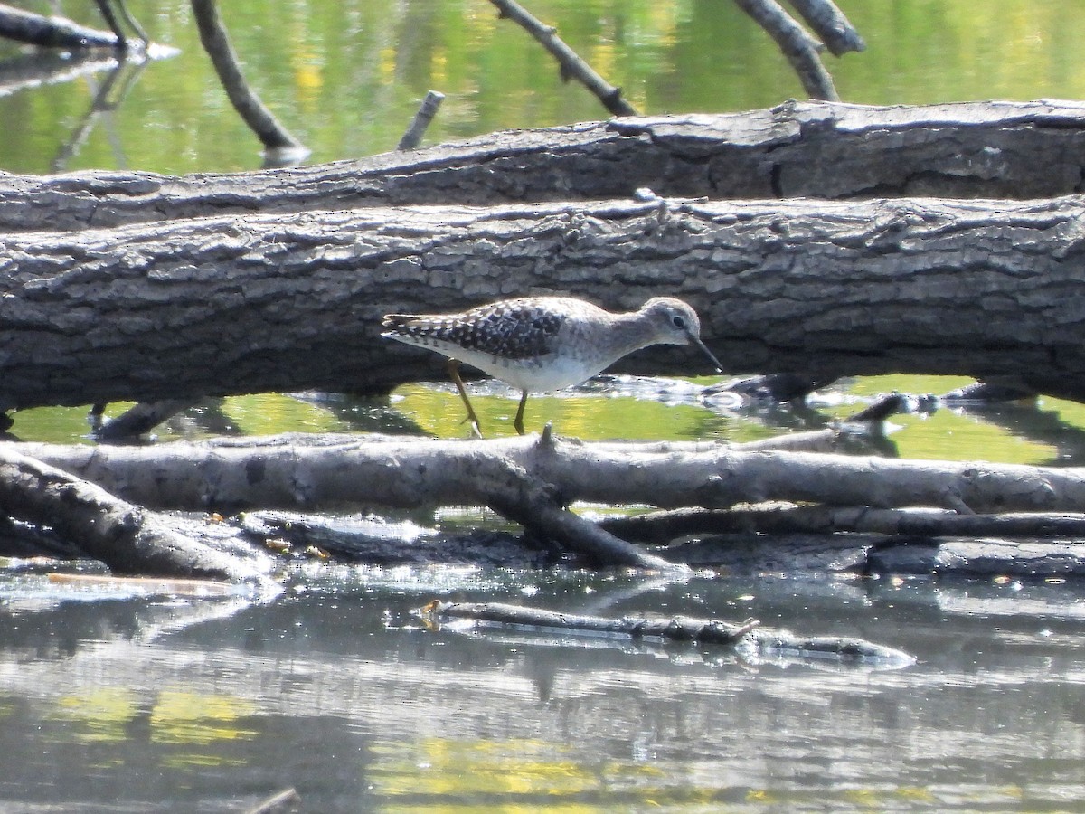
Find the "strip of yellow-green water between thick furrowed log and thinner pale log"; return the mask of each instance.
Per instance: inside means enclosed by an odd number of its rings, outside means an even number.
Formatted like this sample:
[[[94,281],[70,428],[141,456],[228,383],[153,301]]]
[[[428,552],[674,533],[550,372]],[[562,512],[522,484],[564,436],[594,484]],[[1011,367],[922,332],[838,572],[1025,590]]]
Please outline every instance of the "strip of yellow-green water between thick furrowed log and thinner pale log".
[[[700,404],[665,404],[651,398],[608,396],[590,393],[532,395],[527,399],[524,424],[539,432],[547,422],[560,435],[589,441],[717,440],[744,443],[790,432],[827,427],[846,418],[880,394],[944,394],[970,383],[961,377],[884,376],[869,377],[838,385],[839,403],[816,399],[815,409],[791,407],[713,410]],[[512,419],[518,398],[484,394],[469,385],[487,437],[515,434]],[[494,391],[488,391],[494,393]],[[404,432],[443,438],[465,438],[470,430],[463,421],[463,404],[450,387],[412,384],[397,389],[387,415],[352,424],[349,414],[336,412],[320,403],[268,393],[212,399],[180,418],[155,429],[156,441],[200,440],[222,434],[273,435],[284,432]],[[129,405],[110,405],[107,416],[123,412]],[[12,432],[23,441],[56,444],[91,443],[86,407],[37,408],[14,414]],[[382,423],[383,422],[383,423]],[[889,420],[890,455],[902,458],[944,460],[991,460],[1004,463],[1081,463],[1085,450],[1085,405],[1043,398],[1037,404],[975,407],[941,407],[933,412],[903,414]],[[1070,451],[1060,449],[1067,446]]]

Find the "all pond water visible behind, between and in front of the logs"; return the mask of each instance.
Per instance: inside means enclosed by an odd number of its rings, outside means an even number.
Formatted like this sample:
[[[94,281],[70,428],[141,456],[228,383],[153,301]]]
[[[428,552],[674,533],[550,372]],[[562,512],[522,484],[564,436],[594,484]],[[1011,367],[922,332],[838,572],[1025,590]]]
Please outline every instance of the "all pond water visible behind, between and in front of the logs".
[[[98,25],[92,4],[61,9]],[[176,55],[24,76],[0,48],[0,169],[254,168],[260,156],[214,81],[188,3],[129,0]],[[485,0],[222,3],[254,86],[330,161],[392,149],[429,89],[429,140],[597,118]],[[869,43],[827,58],[846,101],[1085,98],[1085,5],[845,2]],[[800,96],[787,64],[718,0],[538,0],[532,8],[646,113],[735,111]],[[273,11],[273,13],[272,13]],[[587,392],[533,398],[527,423],[584,437],[745,441],[818,427],[856,399],[965,382],[845,382],[809,409]],[[622,389],[620,389],[622,390]],[[510,431],[499,387],[482,418]],[[119,411],[123,406],[113,406]],[[86,443],[86,411],[18,414],[35,441]],[[459,436],[447,386],[392,399],[231,398],[161,437],[291,430]],[[1085,408],[940,409],[896,417],[885,453],[1082,465]],[[725,574],[634,577],[308,567],[282,597],[176,598],[60,587],[0,570],[0,810],[244,811],[285,787],[310,812],[1071,811],[1085,806],[1081,587],[847,582]],[[425,628],[434,597],[593,613],[756,616],[853,635],[918,659],[895,671],[742,662],[688,648],[510,640]]]

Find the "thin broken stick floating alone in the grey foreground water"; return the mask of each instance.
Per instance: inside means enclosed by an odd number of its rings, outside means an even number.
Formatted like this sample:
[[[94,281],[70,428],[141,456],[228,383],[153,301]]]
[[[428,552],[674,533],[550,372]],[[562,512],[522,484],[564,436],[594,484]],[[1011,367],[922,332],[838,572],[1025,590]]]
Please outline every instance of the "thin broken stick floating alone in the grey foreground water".
[[[735,649],[751,661],[782,660],[787,662],[831,660],[868,667],[899,669],[915,663],[901,650],[846,636],[797,636],[788,631],[758,628],[758,622],[740,624],[714,619],[690,616],[647,618],[589,616],[562,613],[542,608],[529,608],[501,602],[442,602],[433,600],[417,611],[434,625],[470,621],[483,632],[511,631],[535,635],[620,637],[635,643],[662,639],[698,646],[722,646]]]

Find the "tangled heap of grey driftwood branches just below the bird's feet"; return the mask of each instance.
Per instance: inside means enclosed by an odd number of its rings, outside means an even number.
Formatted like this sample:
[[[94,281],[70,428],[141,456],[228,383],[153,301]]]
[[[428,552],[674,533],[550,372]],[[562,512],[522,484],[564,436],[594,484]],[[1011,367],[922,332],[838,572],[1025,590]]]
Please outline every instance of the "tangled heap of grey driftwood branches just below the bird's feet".
[[[12,484],[0,509],[53,531],[48,539],[36,538],[29,526],[23,535],[27,546],[38,543],[40,550],[69,557],[72,552],[60,546],[71,540],[85,555],[124,573],[253,580],[253,562],[261,562],[254,549],[267,549],[288,560],[330,556],[385,565],[533,568],[565,562],[665,572],[689,564],[733,572],[816,569],[1030,578],[1085,574],[1085,550],[1075,543],[1085,519],[1065,510],[1085,496],[1081,470],[980,469],[749,451],[719,444],[583,444],[546,435],[484,443],[387,437],[333,443],[331,436],[294,436],[152,447],[8,444],[0,451],[33,474],[21,481],[12,472],[0,472]],[[24,453],[50,458],[120,497],[27,460]],[[62,482],[63,489],[30,492],[46,476],[41,472]],[[92,500],[71,499],[88,492]],[[737,506],[784,497],[826,505],[669,511],[598,524],[563,508],[574,498]],[[296,511],[245,512],[231,524],[208,524],[136,509],[125,500],[201,511],[277,505],[306,511],[488,505],[524,525],[528,536],[448,535],[372,517],[335,520]],[[844,501],[853,505],[832,505]],[[868,506],[855,506],[863,503]],[[966,513],[869,508],[879,503],[947,504]],[[999,512],[1006,505],[1022,511]],[[994,513],[967,513],[971,510]],[[130,535],[114,531],[116,521],[108,520],[118,513],[128,526],[154,534],[144,533],[133,548]],[[88,522],[97,524],[92,533],[84,531]],[[974,538],[990,534],[1003,538]],[[671,543],[690,535],[698,539],[666,548],[665,560],[626,542]],[[1005,539],[1010,535],[1021,542]],[[209,548],[215,549],[210,555]],[[266,557],[263,562],[256,576],[267,569]]]

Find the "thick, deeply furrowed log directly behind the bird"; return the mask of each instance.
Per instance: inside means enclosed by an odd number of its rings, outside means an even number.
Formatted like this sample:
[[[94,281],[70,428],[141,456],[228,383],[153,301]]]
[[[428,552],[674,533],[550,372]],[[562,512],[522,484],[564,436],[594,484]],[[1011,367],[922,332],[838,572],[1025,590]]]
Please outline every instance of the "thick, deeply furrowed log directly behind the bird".
[[[368,208],[0,238],[0,409],[443,379],[386,313],[686,298],[732,372],[998,378],[1085,397],[1085,207],[665,202]],[[706,372],[689,348],[617,369]]]

